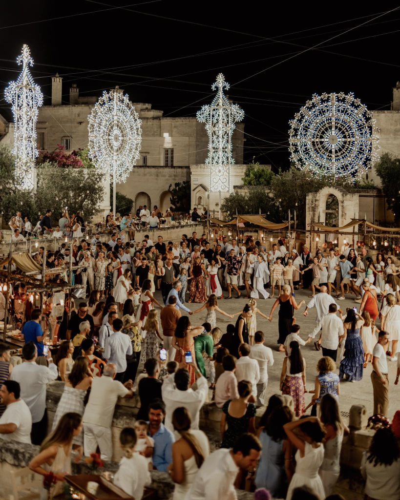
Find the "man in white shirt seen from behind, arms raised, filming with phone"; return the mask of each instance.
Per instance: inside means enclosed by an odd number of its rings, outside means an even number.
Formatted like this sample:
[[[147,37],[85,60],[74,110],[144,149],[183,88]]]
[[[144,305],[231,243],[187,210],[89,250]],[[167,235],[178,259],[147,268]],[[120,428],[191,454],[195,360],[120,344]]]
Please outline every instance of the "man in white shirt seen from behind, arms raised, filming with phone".
[[[197,369],[195,363],[191,363],[196,373],[197,389],[189,387],[190,375],[185,363],[180,363],[174,376],[164,379],[161,387],[162,400],[165,403],[165,427],[173,432],[172,413],[175,408],[184,406],[191,416],[191,428],[198,429],[200,408],[208,394],[208,384],[205,377]]]

